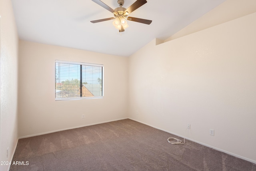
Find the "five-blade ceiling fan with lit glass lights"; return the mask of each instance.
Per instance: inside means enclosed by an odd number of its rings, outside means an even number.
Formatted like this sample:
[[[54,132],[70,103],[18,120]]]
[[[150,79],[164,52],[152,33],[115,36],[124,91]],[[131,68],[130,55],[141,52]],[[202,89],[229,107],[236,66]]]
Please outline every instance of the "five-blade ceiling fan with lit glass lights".
[[[134,10],[138,9],[142,5],[146,4],[146,0],[136,0],[129,8],[123,8],[122,6],[124,5],[124,0],[118,0],[117,3],[119,4],[120,7],[116,9],[112,9],[106,4],[104,4],[101,0],[92,0],[96,4],[102,6],[106,10],[112,12],[114,14],[114,17],[111,18],[104,18],[100,20],[93,20],[91,21],[92,23],[97,23],[97,22],[103,22],[107,20],[114,20],[113,25],[115,26],[116,29],[119,30],[119,32],[124,32],[124,29],[128,27],[127,21],[134,21],[134,22],[140,22],[143,24],[150,24],[152,20],[146,20],[146,19],[141,19],[141,18],[135,18],[135,17],[128,17],[129,14],[131,14]]]

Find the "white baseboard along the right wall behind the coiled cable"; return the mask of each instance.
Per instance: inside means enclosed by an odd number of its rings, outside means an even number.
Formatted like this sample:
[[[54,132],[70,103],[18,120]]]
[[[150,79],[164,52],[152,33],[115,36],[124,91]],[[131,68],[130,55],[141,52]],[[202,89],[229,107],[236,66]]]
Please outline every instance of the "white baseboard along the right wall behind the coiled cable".
[[[171,134],[173,134],[173,135],[177,135],[177,136],[179,136],[179,137],[184,137],[183,135],[178,135],[178,134],[176,134],[176,133],[167,131],[167,130],[165,130],[165,129],[161,129],[161,128],[159,128],[159,127],[155,127],[155,126],[150,125],[150,124],[148,124],[148,123],[144,123],[144,122],[138,121],[138,120],[136,120],[136,119],[132,119],[132,118],[130,118],[130,117],[128,117],[128,119],[134,120],[134,121],[136,121],[136,122],[143,123],[143,124],[145,124],[145,125],[148,125],[148,126],[150,126],[150,127],[159,129],[159,130],[161,130],[161,131],[165,131],[165,132],[171,133]],[[219,148],[217,148],[217,147],[213,147],[213,146],[211,146],[211,145],[208,145],[208,144],[205,144],[205,143],[196,141],[196,140],[194,140],[194,139],[190,139],[190,138],[187,138],[187,137],[186,137],[186,139],[188,139],[188,140],[190,140],[190,141],[193,141],[193,142],[195,142],[195,143],[204,145],[204,146],[206,146],[206,147],[210,147],[210,148],[212,148],[212,149],[216,149],[216,150],[221,151],[221,152],[223,152],[223,153],[226,153],[226,154],[232,155],[232,156],[234,156],[234,157],[238,157],[238,158],[240,158],[240,159],[244,159],[244,160],[246,160],[246,161],[250,161],[251,163],[255,163],[255,164],[256,164],[256,161],[255,161],[255,160],[248,159],[248,158],[246,158],[246,157],[243,157],[243,156],[240,156],[240,155],[237,155],[237,154],[234,154],[234,153],[230,153],[230,152],[228,152],[228,151],[219,149]],[[167,139],[166,139],[166,141],[167,141]]]

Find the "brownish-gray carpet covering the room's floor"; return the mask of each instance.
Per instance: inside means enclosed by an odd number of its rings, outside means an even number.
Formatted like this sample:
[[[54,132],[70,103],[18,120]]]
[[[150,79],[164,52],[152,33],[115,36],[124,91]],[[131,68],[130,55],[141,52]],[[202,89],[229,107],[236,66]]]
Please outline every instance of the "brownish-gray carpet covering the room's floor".
[[[182,139],[124,119],[19,139],[13,161],[25,165],[10,171],[256,171],[254,163],[168,137]]]

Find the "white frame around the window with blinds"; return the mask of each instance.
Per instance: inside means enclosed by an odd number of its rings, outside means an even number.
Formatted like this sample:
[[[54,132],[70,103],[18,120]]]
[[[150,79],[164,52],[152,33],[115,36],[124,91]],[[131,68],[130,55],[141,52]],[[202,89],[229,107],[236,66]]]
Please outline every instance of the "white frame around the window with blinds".
[[[82,66],[98,66],[102,67],[102,95],[97,96],[87,96],[87,97],[57,97],[56,98],[56,63],[65,63],[65,64],[76,64]],[[104,65],[103,64],[92,64],[92,63],[85,63],[85,62],[74,62],[74,61],[63,61],[63,60],[55,60],[55,101],[63,101],[63,100],[80,100],[80,99],[99,99],[104,97]],[[81,77],[81,76],[80,76]],[[81,80],[80,80],[81,84]]]

